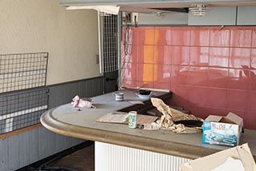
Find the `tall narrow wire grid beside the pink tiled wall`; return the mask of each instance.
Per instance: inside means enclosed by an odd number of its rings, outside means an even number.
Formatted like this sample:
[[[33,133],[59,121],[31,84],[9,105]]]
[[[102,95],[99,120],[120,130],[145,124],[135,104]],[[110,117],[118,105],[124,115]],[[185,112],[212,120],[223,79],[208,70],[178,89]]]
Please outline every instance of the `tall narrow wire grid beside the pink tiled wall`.
[[[118,15],[102,18],[102,69],[103,72],[118,70]]]

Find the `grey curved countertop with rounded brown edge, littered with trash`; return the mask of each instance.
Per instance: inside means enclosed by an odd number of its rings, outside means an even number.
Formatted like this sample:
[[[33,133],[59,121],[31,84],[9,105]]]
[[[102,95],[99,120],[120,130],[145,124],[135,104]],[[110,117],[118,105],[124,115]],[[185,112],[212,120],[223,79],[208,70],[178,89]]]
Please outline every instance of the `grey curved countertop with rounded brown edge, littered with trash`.
[[[91,141],[101,141],[178,157],[198,158],[216,153],[226,146],[202,144],[202,133],[177,134],[169,130],[130,129],[128,125],[97,122],[106,113],[134,105],[129,101],[140,100],[133,90],[122,90],[124,101],[114,101],[112,93],[93,97],[96,109],[78,111],[71,104],[50,109],[41,117],[42,125],[55,133]],[[165,96],[166,92],[154,92],[154,96]],[[166,96],[165,96],[166,97]],[[256,157],[256,131],[245,129],[242,142],[248,142]]]

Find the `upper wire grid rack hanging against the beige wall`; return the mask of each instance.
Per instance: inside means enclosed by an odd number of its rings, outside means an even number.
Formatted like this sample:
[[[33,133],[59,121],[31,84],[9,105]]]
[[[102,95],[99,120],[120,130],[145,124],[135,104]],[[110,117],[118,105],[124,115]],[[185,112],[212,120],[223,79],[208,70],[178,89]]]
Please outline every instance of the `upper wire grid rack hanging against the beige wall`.
[[[46,85],[48,53],[0,54],[0,93]]]

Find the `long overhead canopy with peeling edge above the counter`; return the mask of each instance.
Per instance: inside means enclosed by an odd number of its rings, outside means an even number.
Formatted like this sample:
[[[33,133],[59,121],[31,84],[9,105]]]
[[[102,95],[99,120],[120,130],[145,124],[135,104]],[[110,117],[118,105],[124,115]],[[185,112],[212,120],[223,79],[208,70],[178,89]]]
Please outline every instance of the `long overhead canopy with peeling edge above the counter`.
[[[126,11],[137,13],[188,13],[188,9],[195,4],[207,6],[256,6],[255,0],[60,0],[62,6],[76,6],[76,9],[94,9],[101,6],[102,9],[110,11]],[[85,7],[86,6],[86,7]],[[99,7],[98,7],[99,8]],[[113,14],[113,13],[112,13]]]

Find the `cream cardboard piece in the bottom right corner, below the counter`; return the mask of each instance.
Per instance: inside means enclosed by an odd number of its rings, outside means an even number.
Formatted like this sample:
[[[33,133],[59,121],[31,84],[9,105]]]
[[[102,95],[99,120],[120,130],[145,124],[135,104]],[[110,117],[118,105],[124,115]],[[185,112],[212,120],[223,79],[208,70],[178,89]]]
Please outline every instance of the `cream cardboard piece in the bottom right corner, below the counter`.
[[[239,145],[234,148],[226,149],[206,157],[188,161],[186,163],[181,164],[180,166],[182,171],[198,171],[198,170],[210,171],[210,170],[216,169],[220,165],[225,164],[229,157],[232,157],[236,160],[241,161],[243,168],[246,171],[256,170],[254,157],[250,152],[250,148],[248,144]],[[235,167],[234,165],[227,165],[227,166],[229,167],[229,169],[225,169],[225,170],[238,170],[237,168],[234,169]]]

